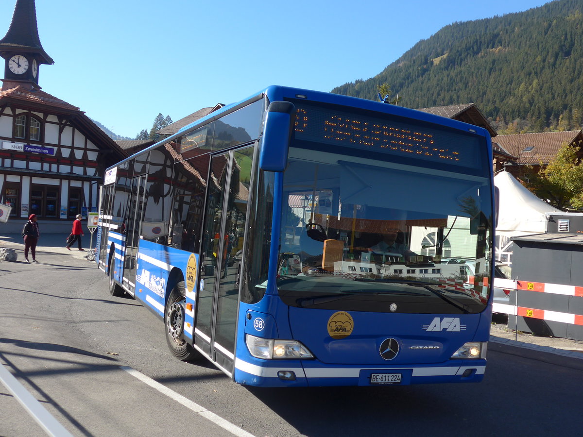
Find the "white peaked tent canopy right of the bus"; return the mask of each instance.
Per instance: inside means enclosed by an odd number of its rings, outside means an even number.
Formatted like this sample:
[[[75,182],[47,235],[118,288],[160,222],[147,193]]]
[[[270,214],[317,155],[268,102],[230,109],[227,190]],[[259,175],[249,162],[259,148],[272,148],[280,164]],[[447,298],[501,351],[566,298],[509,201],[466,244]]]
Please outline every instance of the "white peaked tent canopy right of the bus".
[[[497,235],[510,238],[545,232],[546,215],[561,212],[528,191],[508,172],[498,173],[494,185],[500,190]]]

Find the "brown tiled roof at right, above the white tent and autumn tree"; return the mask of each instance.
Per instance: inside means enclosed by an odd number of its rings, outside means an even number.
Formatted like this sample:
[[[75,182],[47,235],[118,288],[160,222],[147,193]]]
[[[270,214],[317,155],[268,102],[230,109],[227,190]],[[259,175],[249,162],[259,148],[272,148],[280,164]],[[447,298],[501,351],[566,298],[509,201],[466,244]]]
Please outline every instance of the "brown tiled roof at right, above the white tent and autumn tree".
[[[519,164],[549,163],[564,144],[580,146],[583,142],[581,131],[516,133],[498,135],[492,139],[503,150],[518,158]]]

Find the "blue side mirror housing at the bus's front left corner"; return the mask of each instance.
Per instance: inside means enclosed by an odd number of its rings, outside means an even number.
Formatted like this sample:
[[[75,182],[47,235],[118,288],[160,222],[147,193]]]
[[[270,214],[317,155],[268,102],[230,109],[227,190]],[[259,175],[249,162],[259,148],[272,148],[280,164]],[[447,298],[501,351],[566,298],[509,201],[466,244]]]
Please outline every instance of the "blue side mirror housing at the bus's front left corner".
[[[296,107],[287,101],[272,101],[265,115],[263,140],[259,150],[259,168],[265,171],[283,171],[287,165],[291,133]]]

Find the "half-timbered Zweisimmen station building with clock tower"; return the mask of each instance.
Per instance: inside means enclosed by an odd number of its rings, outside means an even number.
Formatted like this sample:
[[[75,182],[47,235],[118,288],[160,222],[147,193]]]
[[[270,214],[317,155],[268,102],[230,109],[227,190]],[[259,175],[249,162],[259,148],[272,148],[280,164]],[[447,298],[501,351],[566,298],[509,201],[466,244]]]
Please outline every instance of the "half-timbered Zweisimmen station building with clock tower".
[[[105,169],[127,153],[85,112],[41,89],[41,66],[54,61],[38,37],[34,0],[16,1],[0,57],[0,203],[10,207],[0,232],[22,231],[33,213],[41,232],[68,232],[76,214],[97,211]]]

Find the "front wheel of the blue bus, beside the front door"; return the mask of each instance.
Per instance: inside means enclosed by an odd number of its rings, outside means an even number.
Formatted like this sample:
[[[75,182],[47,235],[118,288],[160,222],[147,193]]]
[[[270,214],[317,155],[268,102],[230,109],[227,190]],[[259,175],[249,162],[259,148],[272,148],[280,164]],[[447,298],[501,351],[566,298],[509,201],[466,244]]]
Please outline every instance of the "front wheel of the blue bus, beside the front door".
[[[192,344],[185,340],[184,336],[184,316],[186,303],[186,287],[184,281],[180,281],[166,302],[164,311],[164,326],[166,332],[166,343],[174,357],[180,361],[195,361],[202,358]]]

